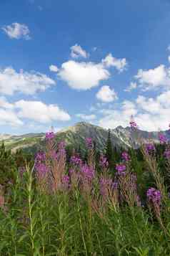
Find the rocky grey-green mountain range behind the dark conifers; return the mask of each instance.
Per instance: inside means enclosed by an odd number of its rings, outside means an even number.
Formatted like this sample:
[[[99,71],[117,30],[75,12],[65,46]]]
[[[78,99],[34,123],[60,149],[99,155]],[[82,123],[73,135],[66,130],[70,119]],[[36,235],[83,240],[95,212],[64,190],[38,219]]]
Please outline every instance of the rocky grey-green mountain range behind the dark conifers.
[[[170,140],[169,131],[163,131],[166,138]],[[118,126],[115,129],[111,129],[111,141],[113,146],[117,148],[137,148],[140,143],[146,143],[149,140],[159,143],[159,133],[153,131],[151,133],[147,131],[136,130],[131,131],[131,128]],[[108,130],[101,128],[97,125],[90,123],[80,122],[73,126],[64,128],[56,133],[56,141],[66,141],[67,145],[74,146],[75,148],[84,149],[85,139],[91,137],[96,141],[96,148],[102,150],[106,145],[108,138]],[[24,148],[26,151],[36,151],[40,146],[44,146],[45,133],[27,133],[21,136],[11,136],[9,134],[1,134],[0,142],[4,141],[6,148],[11,151],[16,151],[19,148]]]

